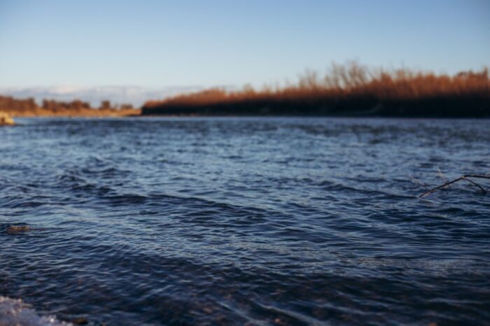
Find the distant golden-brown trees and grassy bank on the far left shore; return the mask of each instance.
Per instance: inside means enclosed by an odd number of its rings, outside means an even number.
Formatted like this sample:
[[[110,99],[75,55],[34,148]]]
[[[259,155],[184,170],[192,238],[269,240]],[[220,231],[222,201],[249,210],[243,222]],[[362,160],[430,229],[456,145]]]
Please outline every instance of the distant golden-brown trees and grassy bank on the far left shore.
[[[34,99],[14,99],[13,97],[0,96],[0,111],[13,115],[14,117],[34,116],[124,116],[139,115],[140,111],[134,109],[130,104],[119,107],[111,106],[109,101],[103,101],[99,108],[92,108],[84,101],[75,100],[70,102],[43,100],[38,106]]]

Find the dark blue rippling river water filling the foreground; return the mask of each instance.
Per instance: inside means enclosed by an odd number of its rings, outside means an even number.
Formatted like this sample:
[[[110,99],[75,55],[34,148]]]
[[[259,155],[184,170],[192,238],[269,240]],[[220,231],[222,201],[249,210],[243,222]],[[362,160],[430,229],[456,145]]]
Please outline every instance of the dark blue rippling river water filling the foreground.
[[[0,295],[41,316],[490,323],[490,194],[416,197],[437,167],[490,172],[489,120],[18,122],[0,129]]]

